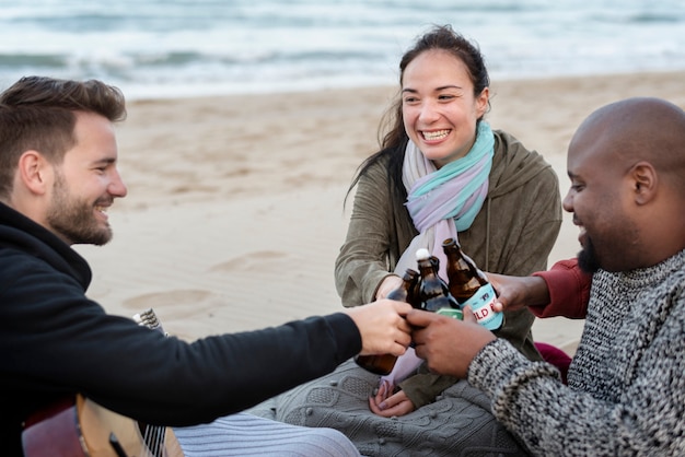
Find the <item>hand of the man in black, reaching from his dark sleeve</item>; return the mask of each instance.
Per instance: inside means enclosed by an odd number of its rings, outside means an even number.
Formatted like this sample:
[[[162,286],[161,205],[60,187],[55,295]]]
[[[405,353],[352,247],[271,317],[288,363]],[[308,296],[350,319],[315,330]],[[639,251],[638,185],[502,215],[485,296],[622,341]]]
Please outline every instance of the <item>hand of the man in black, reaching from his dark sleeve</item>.
[[[361,355],[402,355],[411,342],[411,328],[404,316],[411,305],[394,300],[379,300],[345,309],[361,333]]]

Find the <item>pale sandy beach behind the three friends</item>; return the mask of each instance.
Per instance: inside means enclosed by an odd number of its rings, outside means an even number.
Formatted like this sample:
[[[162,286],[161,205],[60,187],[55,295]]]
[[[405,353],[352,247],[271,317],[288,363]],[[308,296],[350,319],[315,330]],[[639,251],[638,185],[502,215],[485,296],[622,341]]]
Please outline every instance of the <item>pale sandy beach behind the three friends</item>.
[[[566,148],[606,103],[659,96],[685,107],[685,72],[494,81],[494,128],[552,163],[568,189]],[[131,316],[152,307],[184,339],[278,325],[341,308],[333,268],[357,166],[378,148],[396,87],[132,101],[118,126],[128,196],[114,239],[77,246],[89,296]],[[576,255],[565,222],[549,265]],[[572,352],[582,321],[539,320],[537,340]]]

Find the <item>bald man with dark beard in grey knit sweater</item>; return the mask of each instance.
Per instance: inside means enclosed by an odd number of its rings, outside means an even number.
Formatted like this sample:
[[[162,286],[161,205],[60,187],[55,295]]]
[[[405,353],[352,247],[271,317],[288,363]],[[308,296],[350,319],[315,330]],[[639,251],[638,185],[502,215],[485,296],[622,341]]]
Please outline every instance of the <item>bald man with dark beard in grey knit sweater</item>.
[[[568,385],[473,318],[411,310],[416,352],[483,390],[534,455],[685,455],[685,113],[606,105],[577,130],[567,167],[564,208],[593,274]]]

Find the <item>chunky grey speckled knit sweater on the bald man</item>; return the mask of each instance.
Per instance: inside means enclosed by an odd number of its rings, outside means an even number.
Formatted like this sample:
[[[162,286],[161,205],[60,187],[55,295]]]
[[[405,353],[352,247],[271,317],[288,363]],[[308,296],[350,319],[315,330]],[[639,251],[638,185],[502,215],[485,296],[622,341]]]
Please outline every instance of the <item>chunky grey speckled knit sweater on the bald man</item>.
[[[594,276],[569,386],[504,340],[474,359],[468,380],[535,455],[685,455],[685,250]]]

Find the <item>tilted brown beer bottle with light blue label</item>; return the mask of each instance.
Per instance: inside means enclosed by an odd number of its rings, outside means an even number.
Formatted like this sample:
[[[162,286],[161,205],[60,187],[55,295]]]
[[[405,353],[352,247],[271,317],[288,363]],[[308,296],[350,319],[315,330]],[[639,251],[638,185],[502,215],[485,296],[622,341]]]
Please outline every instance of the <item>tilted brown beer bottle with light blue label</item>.
[[[461,308],[471,305],[478,324],[488,330],[502,326],[503,313],[495,312],[492,304],[496,294],[492,284],[476,263],[462,251],[454,238],[442,242],[442,250],[448,257],[448,281],[450,292]]]

